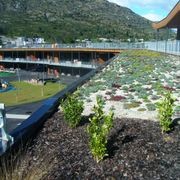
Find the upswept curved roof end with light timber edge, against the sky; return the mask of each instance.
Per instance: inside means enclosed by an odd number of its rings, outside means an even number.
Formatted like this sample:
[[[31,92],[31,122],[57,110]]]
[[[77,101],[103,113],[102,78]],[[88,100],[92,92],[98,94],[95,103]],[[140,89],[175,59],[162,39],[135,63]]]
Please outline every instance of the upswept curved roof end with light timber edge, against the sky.
[[[152,23],[154,29],[168,28],[180,28],[180,0],[171,10],[171,12],[163,20]]]

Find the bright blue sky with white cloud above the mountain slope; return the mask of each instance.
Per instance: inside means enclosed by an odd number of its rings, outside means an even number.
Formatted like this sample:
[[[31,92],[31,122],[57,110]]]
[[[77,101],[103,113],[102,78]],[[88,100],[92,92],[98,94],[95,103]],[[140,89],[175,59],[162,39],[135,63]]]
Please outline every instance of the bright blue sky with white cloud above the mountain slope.
[[[130,8],[135,13],[151,20],[165,18],[179,0],[108,0],[120,6]]]

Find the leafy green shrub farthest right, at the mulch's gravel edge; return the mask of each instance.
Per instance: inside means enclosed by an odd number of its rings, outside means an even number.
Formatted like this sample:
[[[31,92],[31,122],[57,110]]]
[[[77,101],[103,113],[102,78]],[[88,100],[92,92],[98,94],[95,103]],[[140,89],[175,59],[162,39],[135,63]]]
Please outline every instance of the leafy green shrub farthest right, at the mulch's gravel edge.
[[[173,115],[174,99],[171,92],[168,91],[163,100],[157,103],[158,117],[162,132],[168,132],[171,130],[172,115]]]

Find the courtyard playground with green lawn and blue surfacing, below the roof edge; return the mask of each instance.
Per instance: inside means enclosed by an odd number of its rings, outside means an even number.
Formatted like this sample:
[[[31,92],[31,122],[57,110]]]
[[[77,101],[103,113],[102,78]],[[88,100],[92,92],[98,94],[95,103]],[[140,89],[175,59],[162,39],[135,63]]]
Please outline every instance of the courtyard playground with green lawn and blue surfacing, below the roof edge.
[[[62,75],[56,78],[46,72],[17,69],[15,73],[0,72],[0,103],[6,106],[26,104],[47,99],[78,77]]]

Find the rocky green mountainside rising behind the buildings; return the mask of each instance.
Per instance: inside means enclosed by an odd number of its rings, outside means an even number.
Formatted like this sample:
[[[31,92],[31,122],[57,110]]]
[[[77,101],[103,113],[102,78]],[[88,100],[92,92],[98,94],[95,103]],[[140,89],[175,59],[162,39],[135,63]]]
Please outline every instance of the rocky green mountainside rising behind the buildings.
[[[143,38],[151,22],[107,0],[0,0],[0,35],[46,40]]]

